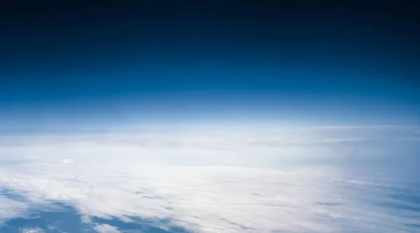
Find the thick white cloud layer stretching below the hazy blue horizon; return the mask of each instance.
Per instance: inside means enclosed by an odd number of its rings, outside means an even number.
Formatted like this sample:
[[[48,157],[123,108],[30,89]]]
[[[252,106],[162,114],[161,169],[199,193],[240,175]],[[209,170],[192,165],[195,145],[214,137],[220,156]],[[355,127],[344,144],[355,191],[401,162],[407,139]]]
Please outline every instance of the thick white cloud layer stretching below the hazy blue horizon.
[[[3,136],[0,227],[59,203],[97,232],[414,232],[419,144],[419,127]]]

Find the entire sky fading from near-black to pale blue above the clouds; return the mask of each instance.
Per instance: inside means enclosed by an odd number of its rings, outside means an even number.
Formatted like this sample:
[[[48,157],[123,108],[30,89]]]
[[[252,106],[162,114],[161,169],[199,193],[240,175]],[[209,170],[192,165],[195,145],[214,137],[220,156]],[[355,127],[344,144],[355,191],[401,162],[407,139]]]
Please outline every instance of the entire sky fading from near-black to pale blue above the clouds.
[[[419,122],[403,1],[152,2],[1,3],[0,126]]]

